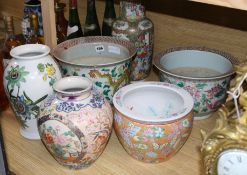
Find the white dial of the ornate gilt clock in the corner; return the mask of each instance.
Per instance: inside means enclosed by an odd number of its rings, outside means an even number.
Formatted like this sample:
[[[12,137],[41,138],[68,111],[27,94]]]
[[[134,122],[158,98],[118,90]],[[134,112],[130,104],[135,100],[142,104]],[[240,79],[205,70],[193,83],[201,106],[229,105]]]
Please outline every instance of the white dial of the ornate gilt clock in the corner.
[[[217,164],[218,175],[246,175],[247,151],[230,149],[220,154]]]

